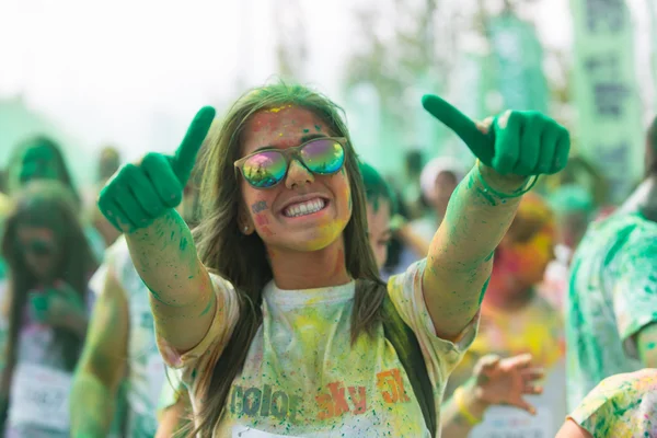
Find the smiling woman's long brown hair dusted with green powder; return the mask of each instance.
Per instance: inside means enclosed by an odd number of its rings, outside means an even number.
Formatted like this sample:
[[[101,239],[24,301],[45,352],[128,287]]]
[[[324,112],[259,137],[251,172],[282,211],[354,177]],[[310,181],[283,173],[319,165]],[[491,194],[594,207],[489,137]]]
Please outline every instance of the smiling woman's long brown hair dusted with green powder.
[[[232,337],[211,376],[201,377],[204,380],[199,383],[204,407],[197,414],[195,433],[201,436],[211,436],[223,414],[232,381],[242,369],[262,323],[262,290],[273,278],[261,238],[256,233],[244,235],[239,231],[238,211],[242,197],[233,162],[240,158],[241,138],[249,118],[262,110],[283,105],[312,112],[328,126],[331,135],[348,140],[345,168],[353,211],[343,239],[347,272],[359,279],[351,315],[351,343],[362,333],[372,334],[380,321],[379,308],[387,290],[379,278],[367,237],[365,189],[358,157],[343,120],[343,110],[324,95],[297,84],[276,83],[247,92],[229,110],[221,128],[212,132],[201,183],[204,214],[195,233],[198,254],[210,270],[231,281],[240,298],[240,319]]]

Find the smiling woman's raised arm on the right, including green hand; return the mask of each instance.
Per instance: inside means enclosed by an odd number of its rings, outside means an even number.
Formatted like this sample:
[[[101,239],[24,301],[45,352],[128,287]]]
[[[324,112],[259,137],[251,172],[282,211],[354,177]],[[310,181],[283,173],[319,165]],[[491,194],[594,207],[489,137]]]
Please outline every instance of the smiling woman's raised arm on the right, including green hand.
[[[506,112],[484,126],[438,96],[423,103],[481,160],[451,196],[423,277],[436,334],[456,339],[480,308],[493,253],[516,215],[520,191],[528,177],[565,166],[569,137],[540,113]]]

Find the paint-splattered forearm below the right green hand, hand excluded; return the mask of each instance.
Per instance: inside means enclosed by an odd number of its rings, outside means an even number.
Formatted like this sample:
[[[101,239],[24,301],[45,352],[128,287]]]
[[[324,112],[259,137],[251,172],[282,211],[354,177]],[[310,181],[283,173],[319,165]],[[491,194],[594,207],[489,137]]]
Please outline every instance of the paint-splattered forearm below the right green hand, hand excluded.
[[[500,193],[516,192],[526,181],[500,176],[482,165],[470,171],[452,194],[423,276],[424,299],[436,334],[446,339],[457,339],[476,314],[493,268],[493,253],[520,201],[493,193],[482,178]]]

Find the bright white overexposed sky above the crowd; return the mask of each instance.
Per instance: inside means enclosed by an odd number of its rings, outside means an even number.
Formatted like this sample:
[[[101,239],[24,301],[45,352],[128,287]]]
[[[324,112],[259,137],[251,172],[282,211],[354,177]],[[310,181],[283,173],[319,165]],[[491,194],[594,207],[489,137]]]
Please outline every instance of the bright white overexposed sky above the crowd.
[[[23,95],[85,148],[112,142],[127,159],[172,150],[199,106],[226,105],[275,73],[280,11],[302,24],[300,79],[342,100],[358,32],[350,11],[368,1],[0,0],[0,99]],[[285,16],[295,2],[302,16]],[[567,0],[532,9],[544,44],[567,48]]]

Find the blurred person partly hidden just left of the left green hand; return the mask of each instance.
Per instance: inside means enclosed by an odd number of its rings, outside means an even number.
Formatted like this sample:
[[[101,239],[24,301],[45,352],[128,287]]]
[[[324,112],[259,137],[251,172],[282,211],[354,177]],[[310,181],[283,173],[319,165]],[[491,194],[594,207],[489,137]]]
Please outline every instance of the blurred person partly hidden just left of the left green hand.
[[[106,147],[101,150],[99,157],[99,169],[96,171],[96,184],[93,191],[89,194],[90,201],[88,203],[88,216],[90,218],[90,222],[96,229],[96,231],[103,237],[103,241],[105,242],[105,246],[112,245],[116,239],[120,235],[120,233],[116,230],[116,228],[112,227],[112,223],[103,217],[103,215],[99,211],[99,208],[95,205],[95,200],[99,196],[101,188],[105,185],[105,183],[114,175],[114,173],[120,166],[120,154],[118,150],[114,147]]]

